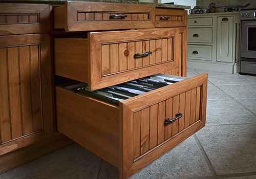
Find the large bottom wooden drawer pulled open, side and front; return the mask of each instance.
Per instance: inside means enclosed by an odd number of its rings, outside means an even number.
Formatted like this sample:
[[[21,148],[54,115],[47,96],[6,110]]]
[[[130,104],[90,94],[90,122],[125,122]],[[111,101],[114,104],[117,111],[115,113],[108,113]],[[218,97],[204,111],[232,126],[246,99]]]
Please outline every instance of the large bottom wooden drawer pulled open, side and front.
[[[56,86],[57,129],[127,178],[205,125],[206,97],[207,74],[125,99],[119,106]],[[183,116],[166,122],[177,113]]]

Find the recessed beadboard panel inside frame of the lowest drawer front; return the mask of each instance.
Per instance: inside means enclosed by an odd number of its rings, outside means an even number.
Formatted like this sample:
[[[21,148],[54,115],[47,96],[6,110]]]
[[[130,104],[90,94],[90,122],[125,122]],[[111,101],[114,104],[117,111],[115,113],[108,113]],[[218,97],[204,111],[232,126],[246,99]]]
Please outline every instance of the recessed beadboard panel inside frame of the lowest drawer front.
[[[134,162],[201,120],[201,88],[195,87],[134,113]],[[177,113],[183,116],[173,123],[165,122]]]

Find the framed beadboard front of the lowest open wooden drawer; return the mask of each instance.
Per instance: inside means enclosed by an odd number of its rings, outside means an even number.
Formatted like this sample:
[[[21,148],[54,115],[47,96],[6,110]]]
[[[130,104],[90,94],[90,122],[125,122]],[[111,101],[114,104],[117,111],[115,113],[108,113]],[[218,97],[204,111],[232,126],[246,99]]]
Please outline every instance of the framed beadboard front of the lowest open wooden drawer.
[[[123,178],[153,162],[205,125],[207,74],[120,102]],[[183,116],[173,123],[177,113]]]

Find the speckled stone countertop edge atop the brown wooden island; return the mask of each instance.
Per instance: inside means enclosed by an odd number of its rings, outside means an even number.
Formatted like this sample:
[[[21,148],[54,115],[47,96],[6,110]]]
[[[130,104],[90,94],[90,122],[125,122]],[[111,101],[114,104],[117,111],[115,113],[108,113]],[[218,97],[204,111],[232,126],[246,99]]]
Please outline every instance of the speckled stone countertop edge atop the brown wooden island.
[[[44,3],[44,4],[51,4],[51,3],[64,3],[66,0],[14,0],[11,2],[15,3]],[[160,4],[160,3],[146,3],[146,2],[139,2],[139,1],[123,1],[123,0],[71,0],[71,1],[84,1],[84,2],[105,2],[105,3],[121,3],[121,4],[140,4],[140,5],[151,5],[157,8],[174,8],[174,9],[190,9],[190,6],[183,6],[183,5],[169,5],[169,4]],[[0,2],[10,2],[10,0],[0,0]]]

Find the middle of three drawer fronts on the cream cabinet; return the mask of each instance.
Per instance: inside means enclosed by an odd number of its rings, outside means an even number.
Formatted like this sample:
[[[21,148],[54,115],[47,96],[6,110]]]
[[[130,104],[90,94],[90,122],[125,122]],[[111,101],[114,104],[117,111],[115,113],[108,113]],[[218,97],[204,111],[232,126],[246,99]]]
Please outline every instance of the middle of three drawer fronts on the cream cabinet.
[[[187,42],[211,43],[212,29],[211,28],[188,28]]]

